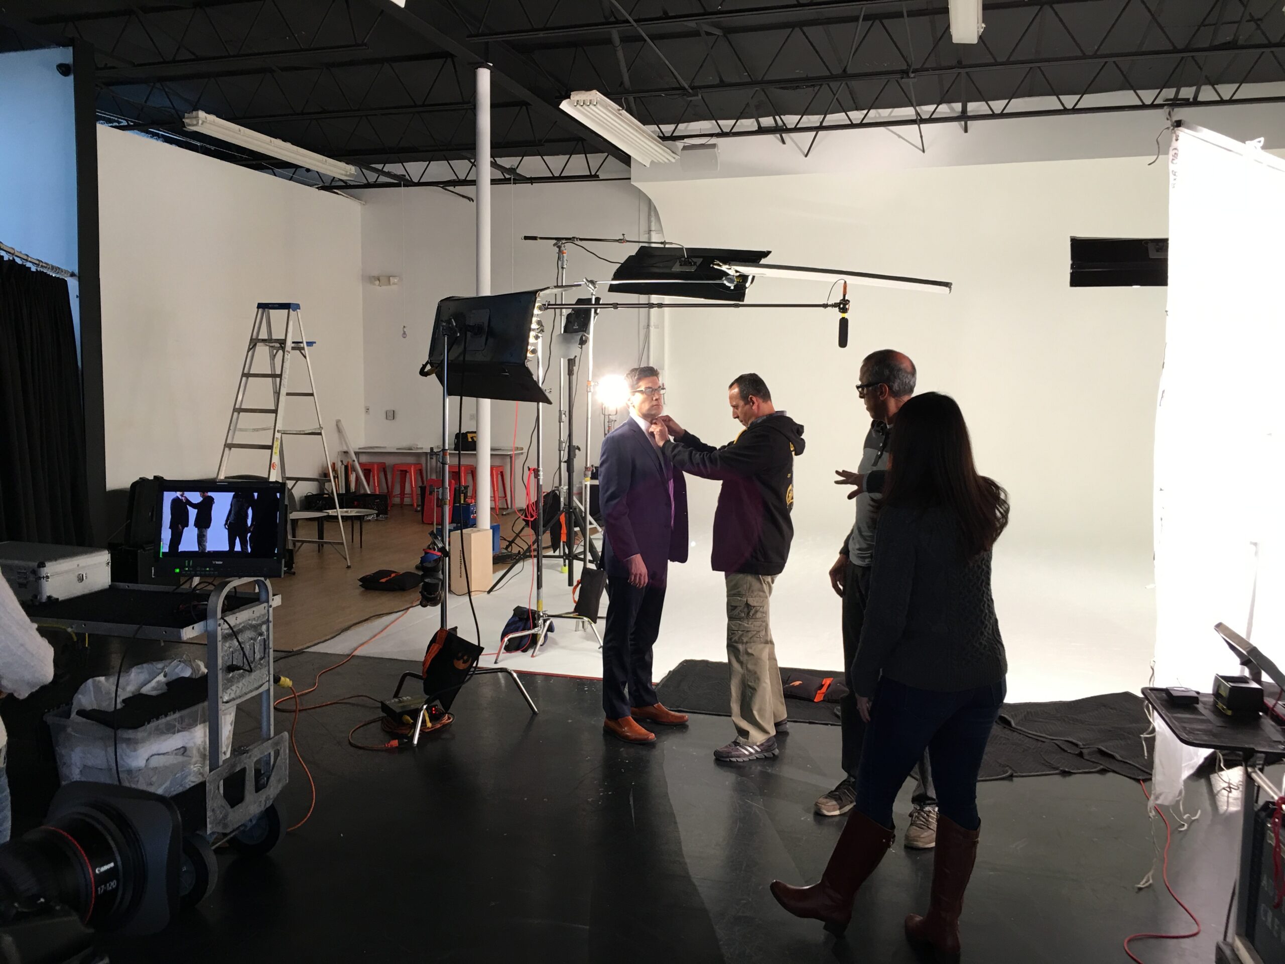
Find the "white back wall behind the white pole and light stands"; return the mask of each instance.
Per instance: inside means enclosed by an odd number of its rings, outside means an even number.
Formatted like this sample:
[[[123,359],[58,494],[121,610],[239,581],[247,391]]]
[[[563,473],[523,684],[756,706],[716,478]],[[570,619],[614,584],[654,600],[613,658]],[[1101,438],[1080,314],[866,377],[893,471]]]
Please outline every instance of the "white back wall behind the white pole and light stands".
[[[469,192],[472,193],[472,192]],[[437,379],[419,377],[428,356],[433,312],[438,299],[474,292],[474,208],[468,201],[430,188],[360,192],[362,303],[365,315],[366,441],[371,445],[437,445],[441,437],[441,396]],[[524,242],[522,235],[580,235],[645,238],[646,197],[627,181],[571,184],[495,184],[491,189],[492,263],[495,292],[551,285],[556,253],[549,242]],[[636,245],[591,245],[604,257],[621,260]],[[614,265],[580,248],[569,248],[568,280],[610,278]],[[397,275],[397,287],[377,288],[370,275]],[[614,297],[605,296],[604,297]],[[634,301],[621,296],[621,301]],[[639,364],[641,328],[636,311],[603,312],[595,329],[595,371],[623,373]],[[551,315],[546,319],[551,323]],[[405,330],[405,337],[403,337]],[[556,402],[556,368],[546,387]],[[583,391],[578,392],[576,436],[583,436]],[[451,432],[456,431],[457,400],[451,401]],[[465,402],[465,428],[475,427],[473,402]],[[384,419],[384,410],[397,413]],[[508,447],[514,440],[514,405],[492,402],[492,442]],[[553,479],[556,460],[556,409],[545,406],[545,479]],[[518,414],[517,443],[526,446],[535,406]],[[601,442],[595,427],[594,460]],[[535,460],[531,461],[535,465]],[[583,464],[583,454],[578,465]],[[520,467],[519,467],[520,472]],[[520,478],[518,479],[520,485]],[[522,503],[519,495],[518,499]]]

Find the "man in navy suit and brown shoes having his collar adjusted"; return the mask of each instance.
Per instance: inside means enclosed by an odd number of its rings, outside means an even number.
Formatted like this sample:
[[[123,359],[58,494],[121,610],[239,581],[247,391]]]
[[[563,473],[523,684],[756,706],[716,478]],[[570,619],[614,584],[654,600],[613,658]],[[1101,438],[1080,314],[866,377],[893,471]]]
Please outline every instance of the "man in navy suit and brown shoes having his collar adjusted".
[[[687,488],[682,473],[648,433],[664,411],[660,373],[630,369],[630,416],[603,440],[598,485],[607,569],[607,629],[603,634],[603,729],[627,743],[651,743],[637,721],[680,726],[651,685],[651,647],[669,562],[687,560]]]

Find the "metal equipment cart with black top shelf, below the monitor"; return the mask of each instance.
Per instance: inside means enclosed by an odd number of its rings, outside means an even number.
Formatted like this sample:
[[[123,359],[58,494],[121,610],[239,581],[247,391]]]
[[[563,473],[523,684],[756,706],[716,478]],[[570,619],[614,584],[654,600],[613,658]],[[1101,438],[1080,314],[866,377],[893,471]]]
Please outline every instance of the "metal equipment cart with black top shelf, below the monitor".
[[[238,593],[252,586],[253,593]],[[247,855],[267,853],[284,833],[276,798],[288,779],[287,733],[272,726],[272,596],[265,578],[235,578],[212,591],[112,584],[73,599],[27,608],[37,626],[121,639],[206,640],[209,754],[204,781],[172,799],[182,815],[180,891],[186,906],[213,888],[213,848],[224,842]],[[258,702],[258,739],[222,745],[221,710]],[[235,738],[234,738],[235,740]]]

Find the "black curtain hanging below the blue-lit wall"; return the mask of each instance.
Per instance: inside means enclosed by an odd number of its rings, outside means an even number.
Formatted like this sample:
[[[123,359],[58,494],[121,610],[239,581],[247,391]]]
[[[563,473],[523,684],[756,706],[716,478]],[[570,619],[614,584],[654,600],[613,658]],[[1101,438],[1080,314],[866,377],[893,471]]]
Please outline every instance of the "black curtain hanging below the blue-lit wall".
[[[93,545],[89,518],[67,281],[0,258],[0,541]]]

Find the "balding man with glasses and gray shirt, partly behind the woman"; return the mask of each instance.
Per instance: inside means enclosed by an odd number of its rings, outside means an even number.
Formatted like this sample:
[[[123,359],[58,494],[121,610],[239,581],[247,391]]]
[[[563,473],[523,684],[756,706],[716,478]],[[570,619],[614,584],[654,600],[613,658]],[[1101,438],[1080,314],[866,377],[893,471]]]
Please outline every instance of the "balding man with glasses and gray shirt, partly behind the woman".
[[[830,585],[843,599],[843,661],[851,672],[852,662],[861,643],[865,622],[866,598],[870,593],[870,566],[874,560],[875,526],[878,523],[879,491],[888,468],[888,438],[897,411],[915,393],[915,362],[898,351],[883,350],[866,356],[861,362],[861,383],[857,396],[865,402],[873,419],[866,433],[861,464],[856,472],[839,470],[835,485],[855,486],[848,496],[856,500],[856,521],[843,542],[839,558],[830,567]],[[839,703],[843,730],[843,780],[816,801],[821,816],[839,816],[856,803],[855,779],[861,763],[861,742],[866,724],[857,712],[856,689],[848,680],[848,695]],[[919,761],[915,772],[919,787],[912,799],[906,846],[928,850],[937,844],[937,797],[933,789],[928,753]]]

